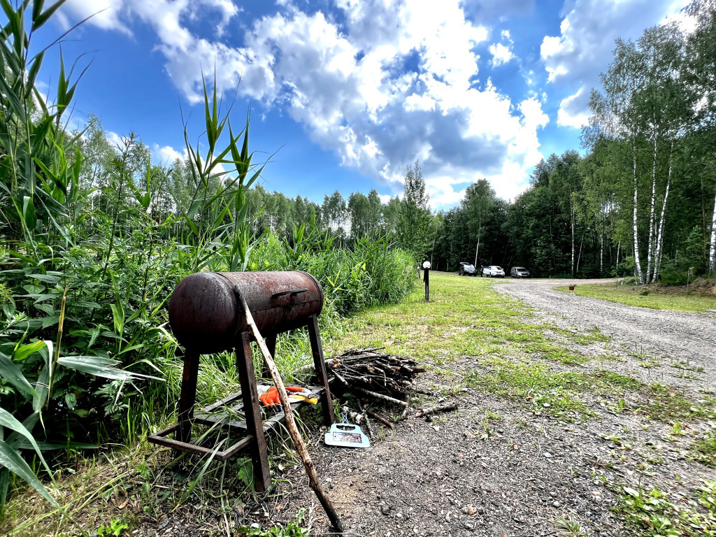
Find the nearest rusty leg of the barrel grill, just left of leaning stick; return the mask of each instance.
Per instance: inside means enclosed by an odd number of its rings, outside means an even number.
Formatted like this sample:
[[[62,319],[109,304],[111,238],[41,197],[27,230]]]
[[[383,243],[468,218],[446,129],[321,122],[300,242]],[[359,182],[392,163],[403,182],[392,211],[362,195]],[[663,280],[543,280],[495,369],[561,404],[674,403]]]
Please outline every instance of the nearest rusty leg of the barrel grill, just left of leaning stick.
[[[271,473],[269,473],[269,454],[266,449],[266,437],[263,435],[261,402],[256,391],[256,374],[253,372],[251,339],[248,332],[241,333],[241,346],[236,347],[236,367],[241,382],[246,432],[253,437],[249,445],[253,462],[253,483],[256,485],[256,492],[263,493],[271,486]]]

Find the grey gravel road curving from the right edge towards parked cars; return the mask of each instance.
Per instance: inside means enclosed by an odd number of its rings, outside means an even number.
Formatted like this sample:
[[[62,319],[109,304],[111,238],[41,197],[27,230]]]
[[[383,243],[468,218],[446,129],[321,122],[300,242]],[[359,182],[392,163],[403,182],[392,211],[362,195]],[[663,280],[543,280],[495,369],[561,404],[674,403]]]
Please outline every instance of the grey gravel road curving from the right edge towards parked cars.
[[[578,284],[614,281],[579,280]],[[574,280],[505,279],[505,283],[495,285],[495,289],[538,310],[538,316],[548,321],[579,329],[598,327],[612,338],[611,352],[629,358],[629,362],[641,359],[641,367],[632,369],[633,363],[627,367],[631,374],[652,382],[670,377],[663,382],[692,392],[716,386],[716,314],[640,308],[555,291],[555,287],[574,284]],[[651,367],[644,367],[644,360]],[[692,374],[684,378],[684,370]]]

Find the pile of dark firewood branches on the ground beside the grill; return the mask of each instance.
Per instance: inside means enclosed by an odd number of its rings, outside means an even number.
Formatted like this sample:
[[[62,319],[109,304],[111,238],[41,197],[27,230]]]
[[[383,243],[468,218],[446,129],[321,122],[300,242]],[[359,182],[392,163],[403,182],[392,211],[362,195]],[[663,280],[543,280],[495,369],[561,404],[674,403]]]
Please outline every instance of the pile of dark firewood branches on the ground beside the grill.
[[[413,359],[379,352],[383,348],[346,351],[328,360],[333,362],[331,372],[348,390],[401,397],[407,394],[415,375],[425,369]]]

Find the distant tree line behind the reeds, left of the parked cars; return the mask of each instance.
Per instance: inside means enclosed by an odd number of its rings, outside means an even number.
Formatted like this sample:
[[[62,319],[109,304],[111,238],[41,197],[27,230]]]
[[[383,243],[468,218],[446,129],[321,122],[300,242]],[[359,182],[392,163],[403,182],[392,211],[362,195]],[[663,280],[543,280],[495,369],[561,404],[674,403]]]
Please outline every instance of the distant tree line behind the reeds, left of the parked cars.
[[[82,188],[94,192],[90,199],[97,210],[111,212],[113,207],[131,198],[129,190],[122,190],[117,183],[117,158],[124,153],[127,153],[123,158],[125,173],[132,176],[135,183],[141,183],[142,174],[151,170],[149,188],[153,205],[150,210],[155,218],[185,215],[195,203],[196,180],[192,172],[195,164],[189,159],[176,158],[170,165],[153,164],[150,148],[135,135],[126,138],[132,140],[129,150],[122,145],[112,145],[102,120],[96,115],[89,115],[82,132],[74,135],[77,150],[83,156]],[[335,190],[326,194],[319,204],[301,195],[289,198],[281,192],[270,192],[260,180],[243,192],[248,230],[254,238],[272,231],[293,241],[296,228],[310,226],[315,231],[328,232],[336,246],[350,246],[365,237],[381,237],[419,257],[427,251],[432,214],[420,163],[407,167],[402,197],[395,195],[386,201],[375,189],[368,195],[351,193],[348,198]],[[221,192],[226,182],[227,176],[221,172],[208,178],[207,198]],[[234,191],[236,188],[229,186],[225,195],[230,196]],[[205,217],[200,213],[194,216],[197,221]],[[231,214],[227,213],[224,218],[226,222],[231,221]]]

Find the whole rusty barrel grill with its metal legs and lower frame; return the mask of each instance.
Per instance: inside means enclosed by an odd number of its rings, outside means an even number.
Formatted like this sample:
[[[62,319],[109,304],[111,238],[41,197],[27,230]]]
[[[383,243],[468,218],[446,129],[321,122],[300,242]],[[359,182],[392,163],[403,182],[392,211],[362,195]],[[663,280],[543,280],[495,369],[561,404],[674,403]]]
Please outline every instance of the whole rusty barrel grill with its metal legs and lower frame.
[[[331,392],[318,330],[318,315],[324,301],[321,284],[311,274],[302,271],[199,272],[180,281],[169,300],[169,323],[176,339],[185,348],[179,419],[175,425],[150,436],[148,440],[175,450],[213,453],[212,449],[191,440],[194,422],[203,425],[218,422],[216,417],[194,415],[199,357],[201,354],[236,349],[241,392],[229,395],[204,410],[216,410],[233,401],[243,400],[245,423],[229,421],[227,425],[246,428],[246,436],[214,457],[226,460],[242,448],[249,448],[256,488],[266,490],[271,484],[264,435],[267,427],[261,417],[261,404],[256,390],[251,353],[253,337],[248,331],[238,293],[246,300],[272,356],[276,351],[278,334],[306,326],[316,377],[324,390],[321,397],[324,422],[326,425],[332,424]],[[175,434],[173,440],[168,438],[171,433]]]

